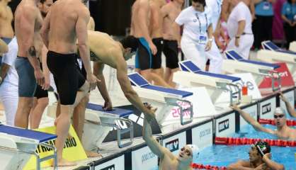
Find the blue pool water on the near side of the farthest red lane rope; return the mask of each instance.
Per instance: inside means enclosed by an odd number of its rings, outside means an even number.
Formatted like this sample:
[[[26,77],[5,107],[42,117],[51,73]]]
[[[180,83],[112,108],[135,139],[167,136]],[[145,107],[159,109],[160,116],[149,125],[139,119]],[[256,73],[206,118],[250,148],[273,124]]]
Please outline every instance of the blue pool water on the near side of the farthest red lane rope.
[[[266,128],[275,130],[274,125],[263,125]],[[295,127],[292,127],[295,128]],[[274,135],[256,131],[251,125],[245,125],[240,132],[232,137],[247,137],[260,139],[278,139]],[[239,159],[249,160],[249,149],[251,145],[227,146],[213,145],[205,147],[200,151],[198,159],[193,160],[197,164],[210,164],[212,166],[228,166]],[[271,147],[272,159],[285,166],[285,169],[296,170],[296,147]]]

